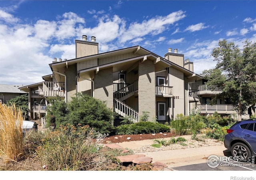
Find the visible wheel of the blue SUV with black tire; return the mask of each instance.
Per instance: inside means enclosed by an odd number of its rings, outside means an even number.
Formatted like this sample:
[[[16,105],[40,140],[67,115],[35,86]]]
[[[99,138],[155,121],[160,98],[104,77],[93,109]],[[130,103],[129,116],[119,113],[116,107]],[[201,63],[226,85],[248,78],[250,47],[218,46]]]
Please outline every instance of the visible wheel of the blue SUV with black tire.
[[[238,157],[239,161],[248,161],[252,157],[252,153],[248,146],[241,142],[233,144],[231,147],[231,154],[233,157]]]

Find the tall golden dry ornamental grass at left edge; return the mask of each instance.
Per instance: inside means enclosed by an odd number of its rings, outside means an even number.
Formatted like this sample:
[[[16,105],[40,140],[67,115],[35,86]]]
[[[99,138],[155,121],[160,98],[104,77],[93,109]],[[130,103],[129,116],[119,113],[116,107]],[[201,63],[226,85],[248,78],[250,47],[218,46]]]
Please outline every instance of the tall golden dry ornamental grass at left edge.
[[[15,104],[0,103],[0,158],[4,162],[22,157],[22,110]]]

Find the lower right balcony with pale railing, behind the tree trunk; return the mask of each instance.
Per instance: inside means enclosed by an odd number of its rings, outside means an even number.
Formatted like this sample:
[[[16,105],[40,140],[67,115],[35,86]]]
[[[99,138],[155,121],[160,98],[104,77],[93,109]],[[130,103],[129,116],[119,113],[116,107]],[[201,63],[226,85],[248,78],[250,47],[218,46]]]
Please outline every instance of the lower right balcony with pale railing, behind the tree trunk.
[[[196,109],[202,114],[213,114],[216,111],[219,114],[237,114],[233,104],[200,104],[196,106]]]

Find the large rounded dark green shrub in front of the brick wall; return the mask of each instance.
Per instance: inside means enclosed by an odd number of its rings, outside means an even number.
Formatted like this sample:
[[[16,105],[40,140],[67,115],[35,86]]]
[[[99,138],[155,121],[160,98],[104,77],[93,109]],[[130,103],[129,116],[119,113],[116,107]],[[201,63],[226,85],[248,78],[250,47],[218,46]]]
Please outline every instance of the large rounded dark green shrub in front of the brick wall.
[[[107,108],[106,103],[91,96],[78,93],[67,104],[60,99],[50,100],[51,106],[47,108],[48,123],[55,123],[56,128],[67,123],[72,125],[89,125],[102,134],[112,134],[113,112]]]

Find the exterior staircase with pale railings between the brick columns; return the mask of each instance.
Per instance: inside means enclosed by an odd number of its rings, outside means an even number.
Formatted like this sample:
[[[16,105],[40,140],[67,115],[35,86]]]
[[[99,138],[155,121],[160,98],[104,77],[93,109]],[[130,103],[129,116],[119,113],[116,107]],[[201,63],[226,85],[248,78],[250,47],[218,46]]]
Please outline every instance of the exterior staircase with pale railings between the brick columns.
[[[134,95],[134,83],[114,92],[114,112],[120,116],[132,116],[133,122],[138,122],[138,112],[127,106],[124,102],[127,98]]]

